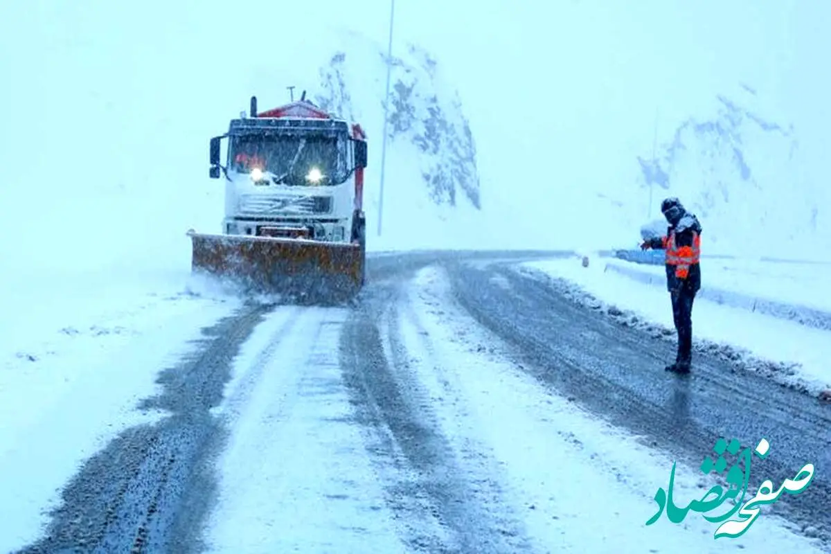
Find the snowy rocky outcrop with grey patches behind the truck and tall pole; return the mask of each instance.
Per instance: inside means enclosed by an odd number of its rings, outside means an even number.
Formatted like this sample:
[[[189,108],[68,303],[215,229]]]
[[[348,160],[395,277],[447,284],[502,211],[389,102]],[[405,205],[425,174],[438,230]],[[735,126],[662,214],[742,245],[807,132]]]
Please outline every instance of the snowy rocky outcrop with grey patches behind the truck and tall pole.
[[[435,57],[409,45],[391,61],[388,149],[408,147],[418,159],[430,199],[456,206],[460,197],[481,208],[476,147],[462,103],[440,76]],[[320,70],[317,105],[352,120],[383,113],[386,54],[379,45],[351,35]],[[383,120],[381,119],[381,124]],[[381,140],[373,140],[376,152]]]

